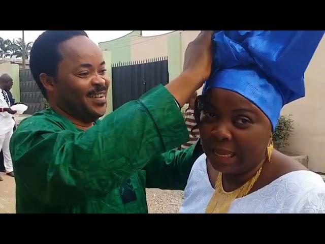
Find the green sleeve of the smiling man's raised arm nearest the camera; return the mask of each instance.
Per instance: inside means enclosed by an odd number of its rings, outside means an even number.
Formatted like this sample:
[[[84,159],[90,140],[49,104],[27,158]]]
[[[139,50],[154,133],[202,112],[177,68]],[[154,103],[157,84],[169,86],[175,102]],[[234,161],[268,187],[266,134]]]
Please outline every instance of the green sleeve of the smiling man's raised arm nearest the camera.
[[[27,118],[10,145],[16,180],[46,204],[106,196],[153,157],[188,139],[182,114],[162,85],[86,132],[62,130],[48,120]]]

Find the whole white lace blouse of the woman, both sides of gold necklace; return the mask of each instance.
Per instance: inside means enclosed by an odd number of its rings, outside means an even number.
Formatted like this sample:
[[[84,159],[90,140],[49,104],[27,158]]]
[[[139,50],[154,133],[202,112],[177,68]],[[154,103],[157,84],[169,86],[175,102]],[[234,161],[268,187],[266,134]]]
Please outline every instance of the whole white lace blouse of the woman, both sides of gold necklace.
[[[180,213],[205,212],[214,192],[206,158],[205,154],[201,155],[191,169]],[[312,171],[290,172],[245,197],[237,198],[228,213],[325,213],[325,182]]]

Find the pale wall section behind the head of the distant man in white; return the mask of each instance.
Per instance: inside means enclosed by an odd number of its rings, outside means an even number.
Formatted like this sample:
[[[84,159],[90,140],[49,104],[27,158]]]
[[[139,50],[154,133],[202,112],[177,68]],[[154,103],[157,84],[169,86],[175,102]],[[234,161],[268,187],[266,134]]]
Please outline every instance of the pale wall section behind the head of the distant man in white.
[[[15,101],[20,102],[19,65],[10,63],[0,64],[0,73],[8,73],[13,78],[14,84],[11,88],[11,93]]]

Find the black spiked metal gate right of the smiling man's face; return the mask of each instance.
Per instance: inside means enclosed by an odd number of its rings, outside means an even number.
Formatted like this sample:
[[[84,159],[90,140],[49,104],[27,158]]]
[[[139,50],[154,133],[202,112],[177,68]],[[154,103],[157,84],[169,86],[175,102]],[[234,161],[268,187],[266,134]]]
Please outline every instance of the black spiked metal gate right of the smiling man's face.
[[[113,110],[169,82],[168,59],[158,57],[112,65]]]

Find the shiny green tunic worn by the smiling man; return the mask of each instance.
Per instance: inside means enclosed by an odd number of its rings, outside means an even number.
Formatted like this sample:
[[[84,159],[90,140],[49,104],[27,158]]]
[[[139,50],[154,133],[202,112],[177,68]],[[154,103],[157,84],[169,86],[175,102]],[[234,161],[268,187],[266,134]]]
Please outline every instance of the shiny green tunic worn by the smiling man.
[[[187,140],[162,85],[85,132],[52,109],[36,113],[10,144],[17,213],[147,213],[146,187],[185,187],[202,148],[171,149]]]

